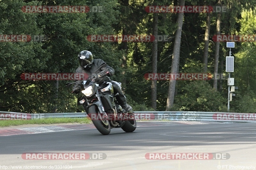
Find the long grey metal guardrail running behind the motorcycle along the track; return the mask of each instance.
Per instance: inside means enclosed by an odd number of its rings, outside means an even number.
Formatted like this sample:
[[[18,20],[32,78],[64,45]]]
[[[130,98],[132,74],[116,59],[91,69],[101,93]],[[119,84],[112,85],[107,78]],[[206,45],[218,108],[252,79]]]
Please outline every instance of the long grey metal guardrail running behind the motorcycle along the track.
[[[214,122],[256,122],[254,113],[225,113],[225,112],[192,112],[192,111],[135,111],[136,120],[153,121],[214,121]],[[26,114],[0,111],[0,120],[12,119],[43,119],[43,118],[83,118],[85,112],[78,113],[42,113]]]

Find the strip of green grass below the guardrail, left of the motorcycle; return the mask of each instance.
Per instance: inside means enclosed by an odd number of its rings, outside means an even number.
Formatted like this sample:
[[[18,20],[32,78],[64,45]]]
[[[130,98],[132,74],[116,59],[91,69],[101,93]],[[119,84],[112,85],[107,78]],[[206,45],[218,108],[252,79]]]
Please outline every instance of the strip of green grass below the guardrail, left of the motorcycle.
[[[87,118],[44,118],[31,120],[0,120],[0,127],[24,124],[91,123]]]

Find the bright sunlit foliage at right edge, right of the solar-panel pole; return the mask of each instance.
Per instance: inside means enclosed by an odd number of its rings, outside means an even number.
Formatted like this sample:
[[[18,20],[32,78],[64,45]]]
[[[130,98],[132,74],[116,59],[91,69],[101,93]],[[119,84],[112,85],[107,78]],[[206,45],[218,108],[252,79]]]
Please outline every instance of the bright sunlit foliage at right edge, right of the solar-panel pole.
[[[240,19],[240,35],[254,35],[256,14],[255,9],[244,10]],[[238,44],[235,54],[235,83],[239,87],[236,96],[230,102],[230,107],[234,107],[236,112],[255,113],[255,88],[256,88],[256,55],[255,42],[242,42]]]

